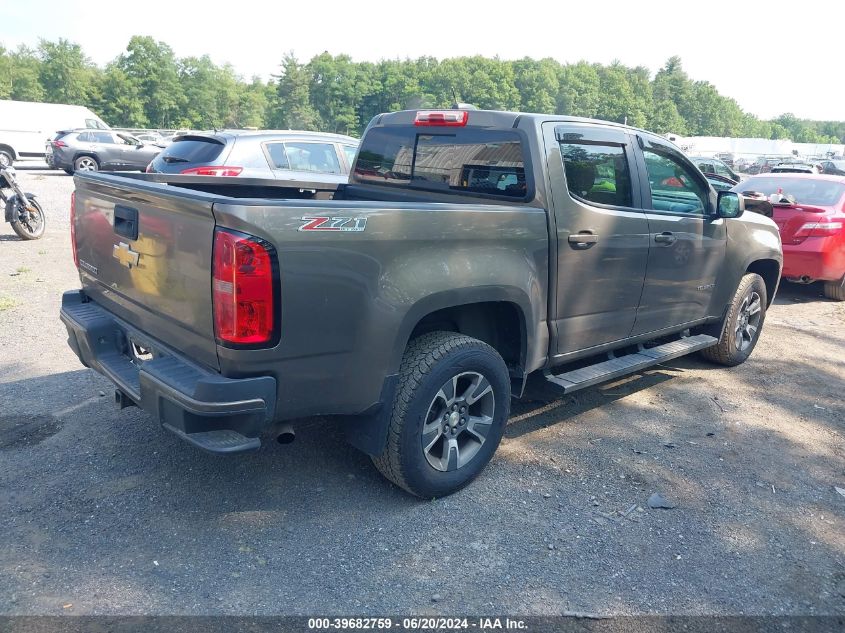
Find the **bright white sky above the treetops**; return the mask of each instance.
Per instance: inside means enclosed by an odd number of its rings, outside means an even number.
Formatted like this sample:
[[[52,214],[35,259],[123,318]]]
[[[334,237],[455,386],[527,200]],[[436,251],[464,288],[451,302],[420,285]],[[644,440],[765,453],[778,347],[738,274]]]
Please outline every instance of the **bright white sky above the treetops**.
[[[264,79],[278,72],[288,51],[300,61],[323,51],[355,61],[619,60],[652,75],[678,55],[691,78],[709,81],[758,117],[791,112],[845,120],[842,0],[4,0],[0,7],[6,48],[63,37],[104,65],[132,35],[151,35],[179,57],[208,54],[245,77]]]

